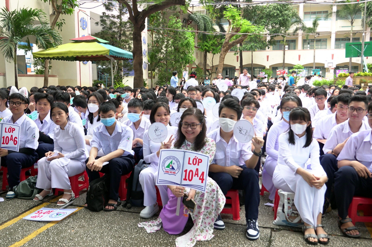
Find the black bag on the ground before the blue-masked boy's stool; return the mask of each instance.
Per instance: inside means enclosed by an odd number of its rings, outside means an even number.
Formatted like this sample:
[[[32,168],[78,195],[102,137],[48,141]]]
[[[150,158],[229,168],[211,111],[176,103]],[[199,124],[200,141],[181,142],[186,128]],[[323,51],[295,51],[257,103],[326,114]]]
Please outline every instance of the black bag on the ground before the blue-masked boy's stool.
[[[94,212],[103,210],[109,201],[110,180],[108,175],[103,175],[89,183],[87,192],[87,209]]]

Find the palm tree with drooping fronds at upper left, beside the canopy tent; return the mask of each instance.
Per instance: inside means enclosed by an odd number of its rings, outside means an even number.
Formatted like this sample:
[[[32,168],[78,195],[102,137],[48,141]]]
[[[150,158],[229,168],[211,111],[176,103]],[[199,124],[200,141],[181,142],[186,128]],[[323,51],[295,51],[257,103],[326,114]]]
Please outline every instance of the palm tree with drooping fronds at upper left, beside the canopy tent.
[[[35,26],[34,22],[41,25]],[[0,40],[1,53],[8,62],[14,62],[15,86],[18,88],[17,46],[19,42],[35,36],[39,48],[48,48],[62,44],[61,35],[49,27],[49,21],[44,11],[40,9],[0,10]]]

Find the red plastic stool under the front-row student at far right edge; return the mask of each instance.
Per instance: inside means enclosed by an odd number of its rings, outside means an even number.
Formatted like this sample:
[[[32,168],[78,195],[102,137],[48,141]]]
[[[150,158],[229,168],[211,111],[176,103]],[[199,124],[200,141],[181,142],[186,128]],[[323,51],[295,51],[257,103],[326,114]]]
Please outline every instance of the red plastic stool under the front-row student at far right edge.
[[[364,216],[359,216],[357,210],[362,210]],[[349,206],[349,217],[356,222],[372,222],[372,198],[354,196]]]

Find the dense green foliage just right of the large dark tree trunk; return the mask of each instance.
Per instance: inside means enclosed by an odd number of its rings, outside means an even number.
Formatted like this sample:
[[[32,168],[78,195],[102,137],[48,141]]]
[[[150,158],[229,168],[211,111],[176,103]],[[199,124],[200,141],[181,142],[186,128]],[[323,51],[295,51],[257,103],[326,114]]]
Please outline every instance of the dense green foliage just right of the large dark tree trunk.
[[[187,64],[195,60],[195,35],[193,32],[174,30],[191,30],[191,28],[183,28],[177,16],[178,13],[161,11],[149,19],[151,26],[160,28],[150,29],[152,40],[148,43],[150,52],[156,54],[152,57],[151,70],[156,70],[158,73],[156,82],[158,85],[169,84],[172,71],[176,70],[180,73],[186,69]]]

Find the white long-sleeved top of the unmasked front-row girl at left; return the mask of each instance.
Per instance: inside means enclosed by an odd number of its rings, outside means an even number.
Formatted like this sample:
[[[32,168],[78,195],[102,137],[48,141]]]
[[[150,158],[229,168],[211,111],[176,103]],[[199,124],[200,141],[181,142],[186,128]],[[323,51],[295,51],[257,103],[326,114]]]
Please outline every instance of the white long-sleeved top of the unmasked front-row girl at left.
[[[79,161],[89,157],[85,149],[84,131],[75,123],[68,121],[64,130],[60,126],[55,127],[53,140],[54,153],[62,153],[65,158]]]

